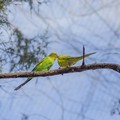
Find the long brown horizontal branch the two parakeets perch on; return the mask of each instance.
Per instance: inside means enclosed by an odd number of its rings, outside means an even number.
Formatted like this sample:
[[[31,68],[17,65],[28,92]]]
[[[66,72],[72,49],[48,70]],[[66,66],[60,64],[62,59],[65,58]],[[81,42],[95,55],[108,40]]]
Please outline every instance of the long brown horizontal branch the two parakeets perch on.
[[[46,72],[4,73],[4,74],[0,74],[0,79],[1,78],[37,77],[37,76],[45,77],[45,76],[53,76],[53,75],[59,75],[59,74],[65,74],[65,73],[82,72],[82,71],[96,70],[96,69],[112,69],[120,73],[119,64],[101,63],[101,64],[89,64],[84,66],[55,69],[55,70],[49,70]]]

